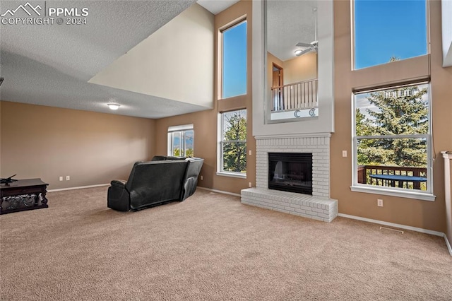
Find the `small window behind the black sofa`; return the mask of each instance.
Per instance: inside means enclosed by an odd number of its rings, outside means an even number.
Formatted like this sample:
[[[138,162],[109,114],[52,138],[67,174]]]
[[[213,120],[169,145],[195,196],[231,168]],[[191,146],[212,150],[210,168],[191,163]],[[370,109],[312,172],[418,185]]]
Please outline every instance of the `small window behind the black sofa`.
[[[186,124],[183,126],[169,126],[168,155],[174,155],[177,157],[193,157],[193,142],[193,124]]]

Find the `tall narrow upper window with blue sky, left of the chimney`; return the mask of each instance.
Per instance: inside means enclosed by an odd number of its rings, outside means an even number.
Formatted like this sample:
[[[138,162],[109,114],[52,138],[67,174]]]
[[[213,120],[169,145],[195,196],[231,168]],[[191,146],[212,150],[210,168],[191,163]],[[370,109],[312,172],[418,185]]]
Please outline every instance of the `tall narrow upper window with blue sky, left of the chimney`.
[[[246,20],[222,30],[221,98],[246,94]]]

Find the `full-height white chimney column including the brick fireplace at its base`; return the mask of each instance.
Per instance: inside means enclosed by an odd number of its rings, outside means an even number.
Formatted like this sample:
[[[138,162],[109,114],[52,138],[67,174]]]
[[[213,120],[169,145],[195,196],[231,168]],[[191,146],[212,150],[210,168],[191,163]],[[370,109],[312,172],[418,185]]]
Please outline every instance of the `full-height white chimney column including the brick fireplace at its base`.
[[[256,138],[256,187],[242,190],[242,203],[331,222],[338,201],[330,199],[330,137],[334,133],[333,1],[316,1],[319,114],[291,122],[270,122],[270,88],[265,35],[253,35],[252,114]],[[265,2],[253,5],[253,32],[264,33]],[[288,28],[290,30],[290,28]],[[312,153],[312,194],[268,189],[268,153]]]

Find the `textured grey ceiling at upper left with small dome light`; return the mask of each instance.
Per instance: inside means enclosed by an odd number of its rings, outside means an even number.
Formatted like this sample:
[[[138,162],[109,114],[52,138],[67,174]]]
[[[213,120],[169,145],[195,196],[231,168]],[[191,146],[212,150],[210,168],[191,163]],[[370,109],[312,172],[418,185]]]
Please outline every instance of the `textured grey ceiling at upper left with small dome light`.
[[[97,72],[191,6],[183,1],[32,1],[44,7],[88,8],[85,25],[1,25],[1,100],[160,118],[205,107],[88,83]],[[0,13],[25,1],[1,1]],[[17,11],[16,17],[28,17]]]

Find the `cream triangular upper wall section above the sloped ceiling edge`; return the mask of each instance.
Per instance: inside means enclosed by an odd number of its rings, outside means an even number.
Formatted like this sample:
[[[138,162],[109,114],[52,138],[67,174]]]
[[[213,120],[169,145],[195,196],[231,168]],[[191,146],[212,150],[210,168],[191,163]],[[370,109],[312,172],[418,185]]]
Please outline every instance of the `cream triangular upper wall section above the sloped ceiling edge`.
[[[213,108],[214,44],[215,17],[194,4],[89,83]]]

